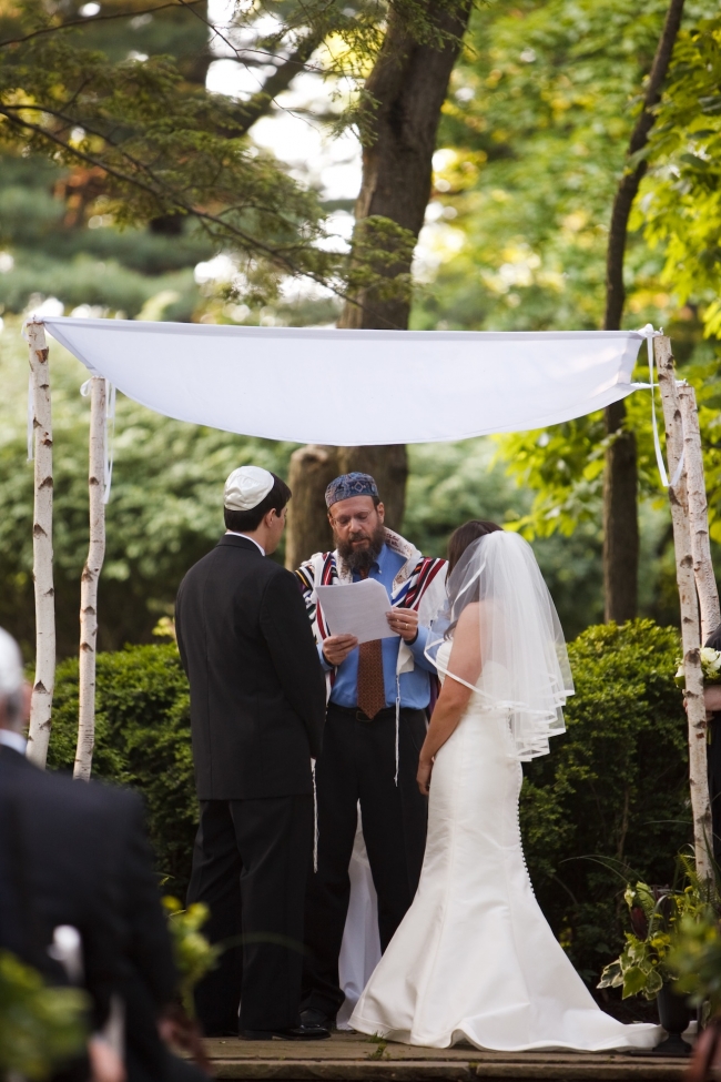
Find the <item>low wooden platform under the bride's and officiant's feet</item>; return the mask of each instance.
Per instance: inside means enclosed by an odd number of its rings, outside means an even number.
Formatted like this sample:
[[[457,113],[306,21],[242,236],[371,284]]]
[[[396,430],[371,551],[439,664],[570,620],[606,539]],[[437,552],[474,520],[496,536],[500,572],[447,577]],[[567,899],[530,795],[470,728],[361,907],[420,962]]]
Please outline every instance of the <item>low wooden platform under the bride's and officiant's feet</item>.
[[[278,1079],[283,1082],[425,1082],[445,1079],[545,1079],[548,1082],[682,1082],[686,1058],[624,1052],[479,1052],[470,1045],[418,1049],[334,1033],[329,1041],[205,1042],[217,1079]]]

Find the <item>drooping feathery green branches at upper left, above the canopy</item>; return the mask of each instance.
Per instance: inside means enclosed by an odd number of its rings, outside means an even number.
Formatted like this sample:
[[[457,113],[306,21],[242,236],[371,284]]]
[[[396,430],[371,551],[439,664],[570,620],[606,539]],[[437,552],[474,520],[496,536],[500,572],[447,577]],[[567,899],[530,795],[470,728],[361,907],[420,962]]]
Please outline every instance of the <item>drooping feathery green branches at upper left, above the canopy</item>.
[[[111,59],[93,43],[92,20],[63,28],[61,9],[34,2],[13,14],[0,44],[4,148],[91,170],[99,190],[89,210],[121,227],[191,216],[214,244],[253,261],[256,281],[324,277],[337,264],[316,245],[315,193],[250,146],[236,102],[190,84],[172,55]]]

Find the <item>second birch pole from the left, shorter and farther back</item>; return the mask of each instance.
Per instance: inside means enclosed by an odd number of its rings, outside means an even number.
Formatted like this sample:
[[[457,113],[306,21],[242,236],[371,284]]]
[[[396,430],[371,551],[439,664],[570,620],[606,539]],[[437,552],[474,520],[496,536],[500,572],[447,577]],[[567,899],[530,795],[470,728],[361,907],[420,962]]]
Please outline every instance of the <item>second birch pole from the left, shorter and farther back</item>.
[[[103,376],[90,381],[90,543],[80,579],[80,673],[78,747],[73,778],[90,780],[95,746],[95,658],[98,645],[98,582],[105,556],[105,413]]]

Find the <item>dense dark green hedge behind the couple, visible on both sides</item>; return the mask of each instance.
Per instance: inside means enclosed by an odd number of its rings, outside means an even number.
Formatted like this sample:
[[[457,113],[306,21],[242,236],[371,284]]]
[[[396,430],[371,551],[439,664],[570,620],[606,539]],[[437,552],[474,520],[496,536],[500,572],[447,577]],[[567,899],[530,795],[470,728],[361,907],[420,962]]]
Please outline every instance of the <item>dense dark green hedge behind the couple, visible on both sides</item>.
[[[690,840],[678,653],[676,629],[651,620],[588,628],[569,646],[577,694],[568,731],[524,767],[521,829],[536,894],[592,983],[622,942],[627,869],[668,882]],[[78,664],[69,660],[58,669],[52,767],[72,766],[77,717]],[[99,655],[93,771],[144,795],[159,871],[182,897],[197,809],[189,692],[174,645]]]

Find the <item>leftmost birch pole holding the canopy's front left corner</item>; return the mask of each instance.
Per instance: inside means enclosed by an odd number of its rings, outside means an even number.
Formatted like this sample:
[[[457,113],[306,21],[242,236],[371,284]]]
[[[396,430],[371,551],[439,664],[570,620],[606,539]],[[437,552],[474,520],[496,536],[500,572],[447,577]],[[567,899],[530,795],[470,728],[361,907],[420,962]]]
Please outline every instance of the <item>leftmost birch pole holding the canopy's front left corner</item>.
[[[52,725],[55,686],[55,590],[52,578],[52,409],[45,331],[41,322],[27,324],[32,431],[34,441],[34,504],[32,577],[35,587],[35,678],[30,704],[28,758],[44,769]]]

